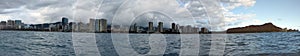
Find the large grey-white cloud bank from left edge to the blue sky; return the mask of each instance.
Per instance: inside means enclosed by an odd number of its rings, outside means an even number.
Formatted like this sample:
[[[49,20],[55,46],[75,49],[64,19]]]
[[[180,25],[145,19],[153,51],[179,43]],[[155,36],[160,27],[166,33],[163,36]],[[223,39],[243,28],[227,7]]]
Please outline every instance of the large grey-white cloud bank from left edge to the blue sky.
[[[125,1],[127,7],[120,8]],[[171,1],[171,2],[167,2]],[[175,1],[175,2],[174,2]],[[255,14],[234,14],[232,9],[251,7],[255,0],[0,0],[0,16],[22,19],[25,23],[60,21],[68,17],[70,21],[88,22],[89,18],[105,18],[112,21],[118,10],[141,12],[145,9],[170,10],[171,15],[183,25],[192,24],[212,30],[236,25],[236,21],[251,19]],[[155,2],[155,3],[152,3]],[[141,3],[139,5],[138,3]],[[123,5],[124,6],[124,5]],[[137,6],[137,7],[136,7]],[[176,6],[176,7],[175,7]],[[135,8],[131,8],[135,7]],[[189,18],[190,15],[195,20]],[[181,16],[182,15],[182,16]],[[127,15],[124,15],[127,16]],[[7,20],[7,19],[0,19]],[[126,19],[125,19],[126,20]],[[215,29],[214,29],[215,28]]]

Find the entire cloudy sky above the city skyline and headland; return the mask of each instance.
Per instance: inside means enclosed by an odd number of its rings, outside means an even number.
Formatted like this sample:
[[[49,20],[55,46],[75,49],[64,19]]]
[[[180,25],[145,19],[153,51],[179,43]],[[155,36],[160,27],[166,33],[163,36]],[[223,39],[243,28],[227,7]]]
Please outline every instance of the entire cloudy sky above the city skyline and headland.
[[[0,0],[0,21],[12,19],[39,24],[67,17],[72,22],[104,18],[109,23],[123,24],[128,18],[152,10],[180,25],[216,31],[268,22],[282,28],[300,29],[300,3],[297,2],[300,0]]]

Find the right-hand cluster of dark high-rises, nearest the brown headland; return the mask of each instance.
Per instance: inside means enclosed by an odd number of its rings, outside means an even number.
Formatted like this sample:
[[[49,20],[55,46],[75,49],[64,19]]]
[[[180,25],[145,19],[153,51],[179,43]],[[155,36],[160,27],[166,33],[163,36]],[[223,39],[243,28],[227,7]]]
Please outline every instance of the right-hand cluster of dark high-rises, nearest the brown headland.
[[[156,27],[155,27],[156,26]],[[130,26],[129,32],[132,33],[199,33],[198,27],[192,27],[191,25],[180,26],[176,23],[171,23],[170,28],[164,28],[163,22],[158,22],[157,25],[154,25],[153,22],[148,22],[148,27],[137,26],[137,23],[134,23]]]

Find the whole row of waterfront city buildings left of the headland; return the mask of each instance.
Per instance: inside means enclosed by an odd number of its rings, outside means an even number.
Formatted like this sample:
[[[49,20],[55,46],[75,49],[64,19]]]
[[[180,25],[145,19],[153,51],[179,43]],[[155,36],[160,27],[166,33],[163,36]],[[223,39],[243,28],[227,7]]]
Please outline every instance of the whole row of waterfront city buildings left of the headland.
[[[122,25],[109,25],[106,19],[89,19],[88,23],[69,22],[69,19],[62,17],[61,21],[42,24],[25,24],[22,20],[7,20],[0,22],[0,30],[21,30],[21,31],[51,31],[51,32],[124,32],[124,33],[208,33],[206,28],[180,26],[171,23],[169,28],[164,27],[164,22],[148,22],[147,27],[132,24],[129,28],[123,28]],[[157,24],[157,25],[156,25]]]

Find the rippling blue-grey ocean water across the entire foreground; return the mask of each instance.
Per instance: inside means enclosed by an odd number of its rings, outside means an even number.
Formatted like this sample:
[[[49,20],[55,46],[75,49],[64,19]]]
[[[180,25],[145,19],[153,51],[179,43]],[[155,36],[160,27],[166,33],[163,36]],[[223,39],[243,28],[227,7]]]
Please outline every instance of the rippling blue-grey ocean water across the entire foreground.
[[[1,56],[299,56],[299,32],[129,34],[0,31]]]

